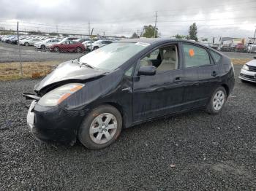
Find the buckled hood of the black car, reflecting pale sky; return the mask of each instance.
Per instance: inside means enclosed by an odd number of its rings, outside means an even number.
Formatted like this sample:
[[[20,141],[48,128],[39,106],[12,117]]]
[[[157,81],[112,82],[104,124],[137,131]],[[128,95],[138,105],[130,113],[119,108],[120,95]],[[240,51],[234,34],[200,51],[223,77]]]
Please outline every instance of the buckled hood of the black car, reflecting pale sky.
[[[67,61],[61,63],[55,70],[48,76],[42,79],[37,85],[34,86],[34,91],[42,90],[48,85],[53,85],[56,82],[66,81],[68,79],[90,79],[99,77],[105,74],[105,71],[91,69],[88,66],[80,66],[78,61]]]

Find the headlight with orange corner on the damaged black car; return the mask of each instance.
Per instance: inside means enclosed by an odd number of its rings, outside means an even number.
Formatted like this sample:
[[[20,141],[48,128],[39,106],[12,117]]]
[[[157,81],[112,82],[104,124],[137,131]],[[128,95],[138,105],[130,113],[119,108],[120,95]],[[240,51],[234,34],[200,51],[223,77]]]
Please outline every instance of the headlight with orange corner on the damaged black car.
[[[40,106],[56,106],[61,104],[61,102],[72,95],[72,93],[82,89],[83,86],[83,84],[78,83],[62,85],[43,95],[42,98],[39,99],[38,104]]]

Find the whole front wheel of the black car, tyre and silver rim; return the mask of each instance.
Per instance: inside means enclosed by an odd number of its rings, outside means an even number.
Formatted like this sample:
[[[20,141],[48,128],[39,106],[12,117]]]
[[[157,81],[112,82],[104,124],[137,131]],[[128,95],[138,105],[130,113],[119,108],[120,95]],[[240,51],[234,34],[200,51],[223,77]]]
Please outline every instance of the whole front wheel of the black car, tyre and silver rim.
[[[78,130],[79,141],[88,149],[103,149],[112,144],[121,133],[122,117],[110,105],[93,109]]]

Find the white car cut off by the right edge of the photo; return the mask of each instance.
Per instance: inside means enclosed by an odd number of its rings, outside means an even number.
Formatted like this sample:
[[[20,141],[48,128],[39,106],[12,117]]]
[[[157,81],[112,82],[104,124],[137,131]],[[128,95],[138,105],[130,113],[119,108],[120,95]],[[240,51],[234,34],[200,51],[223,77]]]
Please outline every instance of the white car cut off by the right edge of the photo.
[[[244,64],[240,71],[241,82],[256,82],[256,56],[255,59]]]

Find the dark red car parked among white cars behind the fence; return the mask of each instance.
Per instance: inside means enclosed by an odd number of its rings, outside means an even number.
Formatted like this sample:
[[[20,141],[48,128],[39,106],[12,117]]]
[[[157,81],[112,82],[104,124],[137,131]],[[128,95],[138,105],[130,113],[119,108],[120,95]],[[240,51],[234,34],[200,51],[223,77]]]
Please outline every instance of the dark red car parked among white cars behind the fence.
[[[53,52],[84,52],[86,47],[80,43],[72,40],[61,41],[50,46],[50,51]]]

